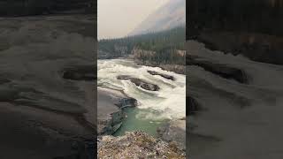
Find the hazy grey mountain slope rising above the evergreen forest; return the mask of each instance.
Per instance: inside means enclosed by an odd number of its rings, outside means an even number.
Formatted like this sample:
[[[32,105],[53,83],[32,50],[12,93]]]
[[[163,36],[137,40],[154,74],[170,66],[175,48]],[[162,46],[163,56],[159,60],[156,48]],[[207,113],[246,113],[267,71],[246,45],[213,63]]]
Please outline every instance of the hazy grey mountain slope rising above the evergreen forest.
[[[159,32],[180,26],[186,26],[186,0],[170,0],[128,35]]]

